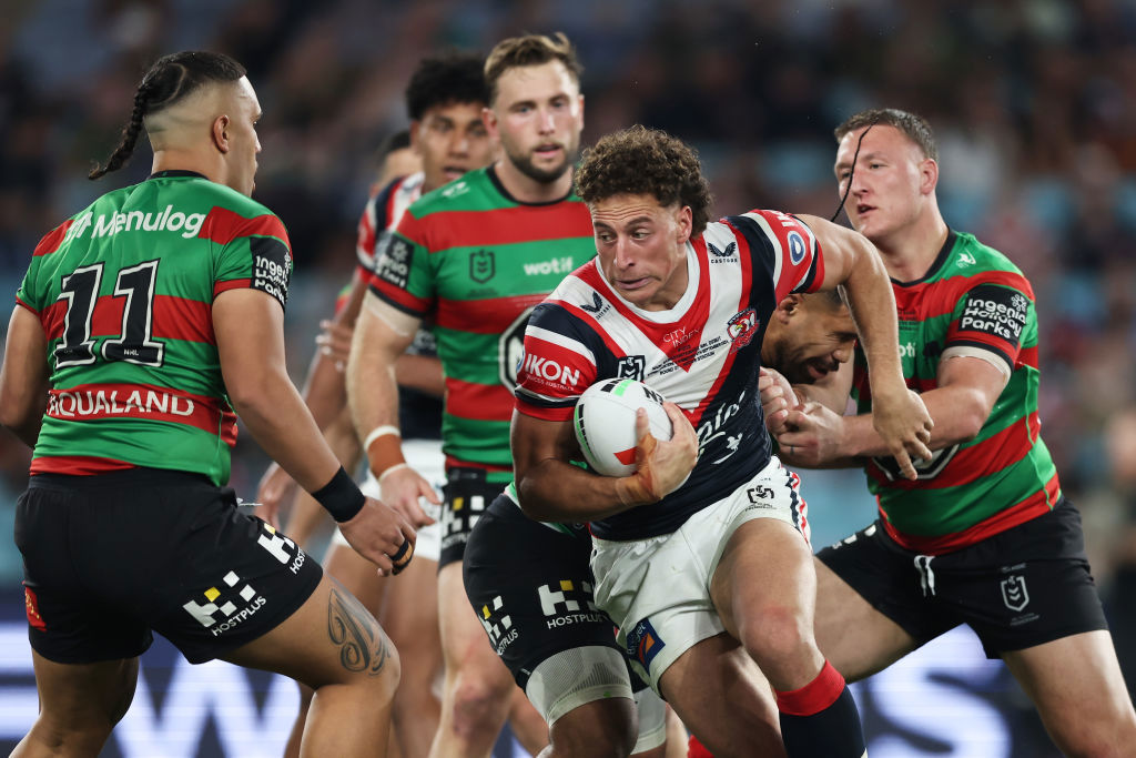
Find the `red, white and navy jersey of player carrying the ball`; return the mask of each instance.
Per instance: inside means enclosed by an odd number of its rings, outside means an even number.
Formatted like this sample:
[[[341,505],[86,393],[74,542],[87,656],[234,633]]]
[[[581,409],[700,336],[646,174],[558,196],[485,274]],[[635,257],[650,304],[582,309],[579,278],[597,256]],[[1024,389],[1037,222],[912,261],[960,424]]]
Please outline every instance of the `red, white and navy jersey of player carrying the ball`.
[[[686,483],[650,508],[594,522],[608,540],[666,534],[720,500],[769,461],[758,368],[777,303],[812,292],[824,261],[812,231],[776,210],[709,224],[686,245],[690,285],[670,310],[624,300],[593,258],[537,306],[525,330],[517,409],[571,419],[591,384],[618,376],[645,382],[676,402],[699,435],[699,463]]]

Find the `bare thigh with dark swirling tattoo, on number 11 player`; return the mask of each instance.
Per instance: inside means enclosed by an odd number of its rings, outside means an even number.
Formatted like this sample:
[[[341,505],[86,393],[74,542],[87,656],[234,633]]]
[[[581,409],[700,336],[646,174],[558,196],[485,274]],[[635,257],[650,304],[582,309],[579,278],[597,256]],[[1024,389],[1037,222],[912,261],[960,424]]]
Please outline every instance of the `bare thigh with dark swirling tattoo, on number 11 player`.
[[[325,574],[300,608],[225,660],[277,672],[312,689],[381,677],[393,692],[399,657],[375,617]]]

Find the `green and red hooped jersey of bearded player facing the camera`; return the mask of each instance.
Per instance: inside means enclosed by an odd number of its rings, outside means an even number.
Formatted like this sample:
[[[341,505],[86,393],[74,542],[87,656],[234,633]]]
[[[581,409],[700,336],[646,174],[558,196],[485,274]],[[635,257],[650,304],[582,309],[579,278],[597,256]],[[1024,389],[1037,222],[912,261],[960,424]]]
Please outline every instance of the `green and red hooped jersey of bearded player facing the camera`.
[[[446,466],[512,478],[509,420],[532,309],[595,255],[587,207],[575,195],[523,203],[492,167],[410,206],[377,256],[371,291],[434,320],[445,374]]]

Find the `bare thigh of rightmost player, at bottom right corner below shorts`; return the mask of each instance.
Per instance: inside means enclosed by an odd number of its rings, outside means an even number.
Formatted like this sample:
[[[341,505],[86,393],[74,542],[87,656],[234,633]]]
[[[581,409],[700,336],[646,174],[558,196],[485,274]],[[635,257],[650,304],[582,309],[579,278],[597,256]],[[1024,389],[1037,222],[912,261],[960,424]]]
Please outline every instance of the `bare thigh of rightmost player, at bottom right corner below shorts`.
[[[1002,658],[1062,750],[1096,755],[1086,745],[1133,748],[1136,714],[1108,631],[1006,651]]]

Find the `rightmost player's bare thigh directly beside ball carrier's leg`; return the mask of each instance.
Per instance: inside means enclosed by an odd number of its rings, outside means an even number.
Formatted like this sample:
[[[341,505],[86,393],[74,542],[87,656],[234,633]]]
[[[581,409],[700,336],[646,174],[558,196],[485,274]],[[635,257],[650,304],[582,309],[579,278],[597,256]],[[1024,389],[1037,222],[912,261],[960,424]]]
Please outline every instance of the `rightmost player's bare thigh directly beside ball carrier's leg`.
[[[918,647],[902,626],[872,608],[820,560],[813,628],[817,645],[845,680],[852,682],[887,668]]]

